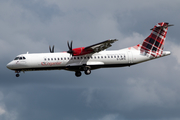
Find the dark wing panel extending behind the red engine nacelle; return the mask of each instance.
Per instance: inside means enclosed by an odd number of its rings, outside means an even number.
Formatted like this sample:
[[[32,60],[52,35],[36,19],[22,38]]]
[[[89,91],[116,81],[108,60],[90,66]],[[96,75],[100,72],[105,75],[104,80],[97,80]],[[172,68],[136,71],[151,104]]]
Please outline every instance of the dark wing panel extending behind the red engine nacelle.
[[[105,50],[105,49],[111,47],[112,46],[111,44],[114,43],[115,41],[118,41],[118,40],[117,39],[105,40],[103,42],[100,42],[100,43],[85,47],[84,50],[92,51],[94,53],[95,52],[100,52],[102,50]]]

